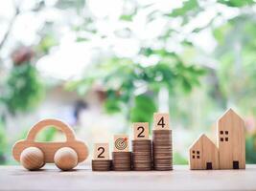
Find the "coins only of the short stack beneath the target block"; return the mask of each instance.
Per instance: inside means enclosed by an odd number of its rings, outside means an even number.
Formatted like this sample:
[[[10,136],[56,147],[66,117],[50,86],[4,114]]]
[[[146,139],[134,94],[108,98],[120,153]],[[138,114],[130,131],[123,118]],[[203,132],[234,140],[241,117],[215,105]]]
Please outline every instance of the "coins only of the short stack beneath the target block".
[[[131,152],[113,152],[113,170],[129,171],[131,170]]]

